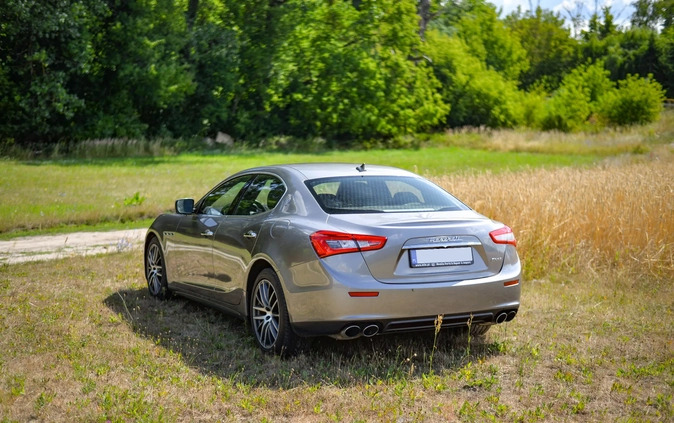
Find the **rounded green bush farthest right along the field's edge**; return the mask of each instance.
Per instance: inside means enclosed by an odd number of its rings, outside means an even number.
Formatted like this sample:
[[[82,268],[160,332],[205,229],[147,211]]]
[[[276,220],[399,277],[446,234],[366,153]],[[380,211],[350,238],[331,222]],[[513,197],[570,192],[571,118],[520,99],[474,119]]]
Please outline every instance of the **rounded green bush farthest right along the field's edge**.
[[[642,125],[656,121],[662,111],[664,91],[652,79],[628,75],[618,89],[602,97],[600,115],[611,125]]]

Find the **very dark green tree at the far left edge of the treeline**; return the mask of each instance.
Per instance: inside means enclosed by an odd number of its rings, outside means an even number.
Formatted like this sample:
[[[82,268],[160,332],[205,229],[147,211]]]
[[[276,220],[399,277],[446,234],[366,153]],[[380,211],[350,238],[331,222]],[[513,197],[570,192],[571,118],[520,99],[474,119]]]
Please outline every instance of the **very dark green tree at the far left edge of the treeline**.
[[[0,14],[0,141],[54,142],[79,131],[80,79],[95,71],[103,1],[6,0]]]

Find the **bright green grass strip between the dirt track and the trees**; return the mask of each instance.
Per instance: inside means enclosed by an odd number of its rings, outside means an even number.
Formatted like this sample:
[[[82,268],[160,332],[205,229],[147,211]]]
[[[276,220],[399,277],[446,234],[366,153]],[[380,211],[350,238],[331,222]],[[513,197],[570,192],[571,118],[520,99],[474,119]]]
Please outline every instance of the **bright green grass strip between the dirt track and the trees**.
[[[274,163],[386,164],[427,175],[503,172],[594,163],[597,155],[536,154],[447,147],[324,154],[239,153],[161,158],[0,162],[0,233],[126,222],[154,217],[178,198],[199,198],[232,173]],[[19,232],[25,234],[25,232]],[[9,235],[15,236],[15,235]],[[7,235],[4,235],[7,237]]]

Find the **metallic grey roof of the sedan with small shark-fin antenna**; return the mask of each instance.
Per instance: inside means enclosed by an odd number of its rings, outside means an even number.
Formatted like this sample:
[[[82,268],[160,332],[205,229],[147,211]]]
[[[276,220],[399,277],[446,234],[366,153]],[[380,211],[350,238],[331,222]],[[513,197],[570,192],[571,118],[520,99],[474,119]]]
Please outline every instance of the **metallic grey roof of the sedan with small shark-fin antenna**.
[[[364,167],[361,167],[364,166]],[[364,170],[358,170],[361,168]],[[247,169],[245,173],[286,170],[294,171],[303,176],[303,179],[318,179],[339,176],[414,176],[418,175],[403,169],[391,166],[379,166],[361,163],[296,163],[274,166],[263,166]]]

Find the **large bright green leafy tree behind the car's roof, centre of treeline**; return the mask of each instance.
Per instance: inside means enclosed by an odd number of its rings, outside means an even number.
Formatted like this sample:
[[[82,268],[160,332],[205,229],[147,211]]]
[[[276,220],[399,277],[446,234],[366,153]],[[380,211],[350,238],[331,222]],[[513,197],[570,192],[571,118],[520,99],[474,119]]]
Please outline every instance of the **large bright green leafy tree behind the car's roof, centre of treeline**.
[[[269,113],[280,132],[336,139],[415,132],[446,114],[419,56],[413,1],[289,2],[294,28],[273,62]]]

